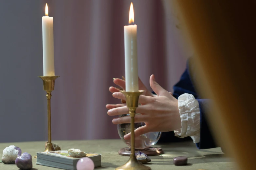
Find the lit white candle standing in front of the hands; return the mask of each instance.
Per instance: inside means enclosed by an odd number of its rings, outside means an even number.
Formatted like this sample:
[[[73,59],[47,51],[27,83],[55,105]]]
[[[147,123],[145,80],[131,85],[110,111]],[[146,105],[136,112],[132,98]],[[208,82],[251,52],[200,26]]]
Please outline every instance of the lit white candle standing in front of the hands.
[[[133,5],[131,3],[129,24],[134,23]],[[137,61],[137,25],[124,26],[125,35],[125,86],[127,92],[137,92],[138,61]]]

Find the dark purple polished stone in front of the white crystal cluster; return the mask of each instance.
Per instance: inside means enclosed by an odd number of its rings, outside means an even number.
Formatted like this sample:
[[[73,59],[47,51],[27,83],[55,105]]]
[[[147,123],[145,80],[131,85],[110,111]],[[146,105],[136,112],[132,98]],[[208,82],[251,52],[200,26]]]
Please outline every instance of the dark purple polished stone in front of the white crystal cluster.
[[[21,156],[18,156],[15,160],[15,164],[22,170],[32,169],[32,156],[25,152]]]

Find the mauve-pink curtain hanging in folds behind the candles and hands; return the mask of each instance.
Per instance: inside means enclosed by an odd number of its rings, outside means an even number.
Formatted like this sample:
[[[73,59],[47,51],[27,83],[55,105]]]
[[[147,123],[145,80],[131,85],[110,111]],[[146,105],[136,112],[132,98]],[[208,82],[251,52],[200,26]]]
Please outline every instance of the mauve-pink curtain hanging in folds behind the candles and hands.
[[[55,91],[53,140],[118,138],[106,104],[119,103],[109,92],[113,78],[125,76],[124,30],[128,0],[47,0],[54,17]],[[46,1],[42,1],[42,11]],[[134,0],[138,25],[139,76],[168,91],[184,71],[186,54],[169,7],[160,0]]]

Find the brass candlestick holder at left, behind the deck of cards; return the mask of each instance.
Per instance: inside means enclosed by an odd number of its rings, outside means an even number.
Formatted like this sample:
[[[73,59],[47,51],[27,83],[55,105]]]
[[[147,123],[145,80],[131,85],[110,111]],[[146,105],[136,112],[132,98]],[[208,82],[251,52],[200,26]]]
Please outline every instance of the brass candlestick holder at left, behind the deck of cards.
[[[43,80],[43,90],[46,91],[47,98],[47,115],[48,115],[48,142],[44,152],[54,151],[52,146],[52,131],[51,131],[51,92],[54,90],[56,78],[60,76],[38,76]],[[37,156],[35,156],[37,158]]]

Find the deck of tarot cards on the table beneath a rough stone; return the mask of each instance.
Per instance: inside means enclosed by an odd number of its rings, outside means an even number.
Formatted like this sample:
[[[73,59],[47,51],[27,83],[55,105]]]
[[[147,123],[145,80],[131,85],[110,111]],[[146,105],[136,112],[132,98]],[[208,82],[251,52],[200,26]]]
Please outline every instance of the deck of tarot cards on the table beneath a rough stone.
[[[101,154],[87,153],[85,158],[93,160],[94,167],[101,166]],[[81,158],[70,157],[67,150],[37,152],[36,164],[60,169],[77,170],[76,166],[79,159]]]

